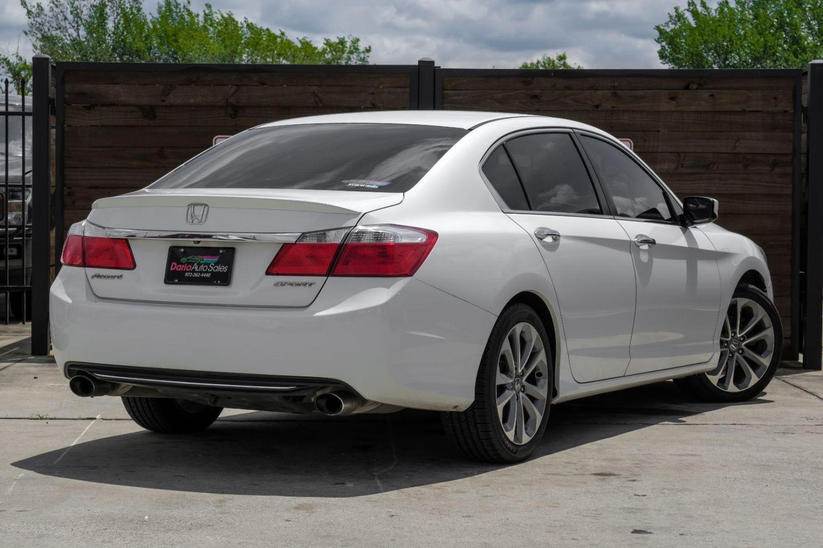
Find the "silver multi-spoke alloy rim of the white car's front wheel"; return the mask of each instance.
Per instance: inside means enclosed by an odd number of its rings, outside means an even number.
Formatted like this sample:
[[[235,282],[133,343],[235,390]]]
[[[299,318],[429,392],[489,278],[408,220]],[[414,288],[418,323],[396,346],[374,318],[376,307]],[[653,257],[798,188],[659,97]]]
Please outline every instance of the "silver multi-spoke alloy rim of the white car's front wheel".
[[[729,304],[720,333],[720,359],[709,382],[726,392],[740,392],[763,378],[774,354],[774,325],[763,306],[736,297]]]

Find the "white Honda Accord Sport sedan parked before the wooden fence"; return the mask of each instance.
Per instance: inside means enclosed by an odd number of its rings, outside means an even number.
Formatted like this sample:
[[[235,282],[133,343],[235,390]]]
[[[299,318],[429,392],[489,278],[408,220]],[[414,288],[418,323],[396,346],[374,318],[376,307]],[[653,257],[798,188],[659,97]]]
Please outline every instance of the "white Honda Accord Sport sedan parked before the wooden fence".
[[[552,403],[676,379],[760,394],[783,343],[763,251],[597,128],[383,112],[244,131],[72,226],[58,366],[138,424],[222,408],[443,412],[527,458]]]

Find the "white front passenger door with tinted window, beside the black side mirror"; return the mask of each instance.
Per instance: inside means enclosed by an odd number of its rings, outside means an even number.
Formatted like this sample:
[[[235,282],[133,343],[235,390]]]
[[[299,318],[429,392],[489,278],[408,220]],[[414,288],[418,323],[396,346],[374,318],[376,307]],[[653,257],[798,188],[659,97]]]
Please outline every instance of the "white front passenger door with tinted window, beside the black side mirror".
[[[622,145],[593,135],[580,142],[632,241],[637,306],[626,375],[708,361],[720,306],[714,246],[681,225],[677,201]]]

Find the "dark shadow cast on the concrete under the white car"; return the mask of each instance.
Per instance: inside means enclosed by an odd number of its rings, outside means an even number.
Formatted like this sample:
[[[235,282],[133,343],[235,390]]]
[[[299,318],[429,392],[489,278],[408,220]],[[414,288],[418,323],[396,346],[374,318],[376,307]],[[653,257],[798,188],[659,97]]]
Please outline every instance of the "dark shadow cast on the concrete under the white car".
[[[757,403],[770,400],[737,405]],[[720,407],[693,403],[671,382],[556,405],[533,458]],[[301,497],[370,495],[504,467],[463,458],[446,439],[434,412],[332,420],[271,417],[259,412],[235,415],[198,435],[112,435],[78,443],[56,464],[65,448],[12,464],[47,476],[110,485]]]

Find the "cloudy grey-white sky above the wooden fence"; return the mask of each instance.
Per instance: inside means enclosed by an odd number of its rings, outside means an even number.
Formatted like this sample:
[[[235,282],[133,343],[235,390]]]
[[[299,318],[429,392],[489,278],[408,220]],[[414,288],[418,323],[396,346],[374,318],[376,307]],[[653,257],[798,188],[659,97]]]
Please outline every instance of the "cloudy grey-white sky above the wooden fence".
[[[46,0],[43,0],[45,3]],[[156,0],[144,2],[154,11]],[[204,2],[192,2],[201,8]],[[292,38],[355,35],[370,62],[442,67],[517,67],[566,52],[587,68],[660,67],[654,25],[685,0],[212,0]],[[714,3],[714,2],[712,2]],[[0,47],[31,54],[19,0],[0,0]]]

